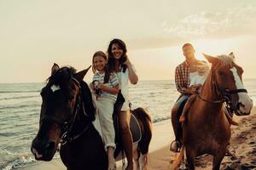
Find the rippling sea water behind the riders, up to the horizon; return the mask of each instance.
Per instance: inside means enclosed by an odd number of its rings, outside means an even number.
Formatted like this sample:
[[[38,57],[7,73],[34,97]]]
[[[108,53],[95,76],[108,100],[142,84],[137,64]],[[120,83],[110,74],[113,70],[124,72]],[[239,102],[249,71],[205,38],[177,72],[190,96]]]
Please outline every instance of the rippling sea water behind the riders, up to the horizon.
[[[248,94],[256,101],[256,79],[244,80]],[[0,84],[0,169],[10,170],[34,163],[30,151],[38,133],[41,88],[45,83]],[[153,122],[170,119],[178,97],[174,81],[141,81],[130,88],[132,107],[148,109]],[[171,127],[170,127],[171,128]],[[58,154],[56,154],[58,157]]]

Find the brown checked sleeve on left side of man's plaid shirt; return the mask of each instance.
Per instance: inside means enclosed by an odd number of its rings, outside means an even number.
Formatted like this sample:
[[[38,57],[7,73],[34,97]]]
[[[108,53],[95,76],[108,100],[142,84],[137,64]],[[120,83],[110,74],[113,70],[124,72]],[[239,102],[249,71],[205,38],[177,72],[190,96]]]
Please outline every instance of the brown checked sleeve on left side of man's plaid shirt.
[[[175,84],[181,94],[185,94],[185,90],[189,88],[189,65],[186,61],[176,67]]]

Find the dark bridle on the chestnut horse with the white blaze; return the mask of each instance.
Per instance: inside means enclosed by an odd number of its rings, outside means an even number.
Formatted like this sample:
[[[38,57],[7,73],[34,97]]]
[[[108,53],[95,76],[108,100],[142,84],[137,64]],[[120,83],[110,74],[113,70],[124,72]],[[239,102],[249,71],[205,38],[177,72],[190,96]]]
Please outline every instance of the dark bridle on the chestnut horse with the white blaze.
[[[236,90],[230,90],[228,88],[221,89],[218,86],[218,82],[216,82],[216,80],[215,80],[215,75],[214,74],[212,74],[212,84],[217,89],[217,92],[220,93],[221,99],[219,99],[219,100],[208,100],[208,99],[204,99],[203,97],[201,97],[200,94],[197,94],[199,99],[201,99],[202,101],[205,101],[207,103],[212,103],[212,104],[220,104],[220,103],[224,102],[226,104],[227,110],[230,113],[235,112],[235,108],[233,108],[232,102],[230,100],[230,95],[231,94],[239,94],[239,93],[247,93],[247,89],[245,89],[245,88],[239,88],[239,89],[236,89]]]

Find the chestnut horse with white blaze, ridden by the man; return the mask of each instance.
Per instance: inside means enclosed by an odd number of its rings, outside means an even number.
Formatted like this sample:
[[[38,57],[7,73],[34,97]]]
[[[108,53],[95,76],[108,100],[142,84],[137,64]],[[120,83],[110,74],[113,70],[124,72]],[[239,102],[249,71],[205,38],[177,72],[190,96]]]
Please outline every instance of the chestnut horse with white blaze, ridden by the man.
[[[182,160],[184,151],[189,169],[195,169],[195,157],[203,154],[213,156],[212,169],[219,169],[227,145],[230,142],[230,123],[224,111],[236,115],[249,115],[253,101],[242,84],[242,68],[234,62],[234,54],[212,57],[205,54],[212,64],[201,94],[192,95],[183,113],[183,146],[177,161]]]

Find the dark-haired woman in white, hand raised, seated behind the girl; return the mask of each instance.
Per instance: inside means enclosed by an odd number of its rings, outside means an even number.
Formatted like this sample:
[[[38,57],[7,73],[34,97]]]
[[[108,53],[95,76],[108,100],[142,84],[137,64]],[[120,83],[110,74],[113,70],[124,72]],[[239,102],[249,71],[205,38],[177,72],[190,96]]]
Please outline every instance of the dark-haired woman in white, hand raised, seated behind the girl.
[[[108,45],[108,66],[111,71],[117,72],[121,93],[125,98],[125,103],[119,114],[119,123],[125,156],[127,157],[128,166],[126,170],[133,169],[132,163],[132,139],[129,127],[131,112],[129,108],[129,82],[136,84],[138,77],[131,61],[126,55],[125,42],[120,39],[113,39]]]

